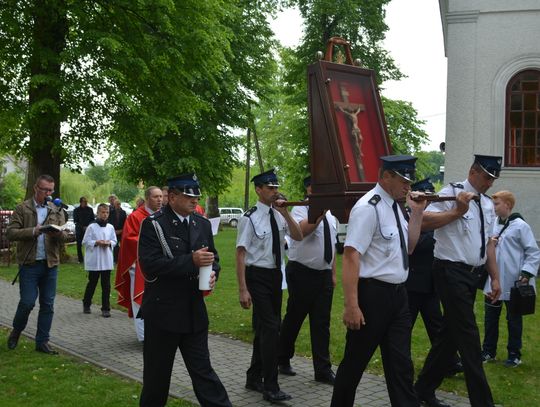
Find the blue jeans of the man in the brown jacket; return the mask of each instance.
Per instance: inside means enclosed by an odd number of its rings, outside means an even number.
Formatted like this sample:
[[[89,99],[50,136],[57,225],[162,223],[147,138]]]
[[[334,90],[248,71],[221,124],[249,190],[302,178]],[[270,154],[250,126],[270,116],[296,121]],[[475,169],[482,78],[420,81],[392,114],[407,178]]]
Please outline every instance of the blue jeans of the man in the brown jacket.
[[[49,340],[52,318],[54,314],[54,297],[56,295],[57,267],[49,268],[46,262],[20,266],[19,293],[20,300],[13,318],[13,328],[21,332],[26,328],[28,316],[34,308],[39,296],[39,314],[36,333],[36,345]]]

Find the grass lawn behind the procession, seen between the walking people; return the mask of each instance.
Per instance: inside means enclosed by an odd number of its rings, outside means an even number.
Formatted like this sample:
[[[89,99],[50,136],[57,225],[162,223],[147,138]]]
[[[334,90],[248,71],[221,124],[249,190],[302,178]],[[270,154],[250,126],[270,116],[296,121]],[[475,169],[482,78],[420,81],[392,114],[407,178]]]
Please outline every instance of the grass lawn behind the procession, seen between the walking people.
[[[215,292],[207,297],[207,306],[210,314],[210,329],[214,333],[220,333],[245,341],[252,338],[251,311],[243,310],[238,300],[238,288],[235,271],[235,241],[236,229],[224,228],[216,236],[216,246],[220,253],[222,272]],[[68,252],[74,254],[73,247]],[[76,256],[75,256],[76,257]],[[341,271],[341,258],[338,258],[338,274]],[[0,277],[11,280],[16,273],[16,266],[0,266]],[[58,292],[77,299],[82,299],[86,275],[79,264],[63,264],[58,278]],[[99,300],[99,288],[94,296]],[[113,292],[111,303],[116,300],[116,292]],[[283,299],[283,313],[285,312],[287,295]],[[343,292],[341,289],[341,277],[338,276],[338,286],[334,292],[334,302],[331,322],[330,352],[334,364],[339,364],[345,344],[345,327],[341,322],[343,313]],[[504,312],[503,312],[504,314]],[[478,293],[476,301],[476,315],[483,336],[483,300]],[[485,365],[488,380],[494,394],[496,403],[510,407],[531,407],[537,405],[540,399],[540,353],[536,352],[535,344],[540,339],[540,317],[538,313],[524,317],[523,334],[523,364],[515,369],[508,369],[502,365],[506,358],[506,322],[501,317],[500,341],[498,348],[498,363]],[[304,324],[296,343],[296,352],[300,355],[310,355],[309,327]],[[429,340],[425,333],[421,319],[417,321],[413,331],[412,352],[415,371],[419,372],[424,358],[429,350]],[[5,345],[0,344],[0,348]],[[2,351],[2,353],[4,353]],[[292,361],[294,365],[294,360]],[[0,376],[6,376],[5,367],[0,364]],[[246,366],[247,369],[247,366]],[[374,374],[382,374],[382,363],[379,354],[375,354],[369,367]],[[463,375],[444,381],[442,390],[457,392],[466,395],[466,387]],[[1,391],[1,390],[0,390]],[[0,393],[1,394],[1,393]],[[138,394],[138,393],[136,393]]]

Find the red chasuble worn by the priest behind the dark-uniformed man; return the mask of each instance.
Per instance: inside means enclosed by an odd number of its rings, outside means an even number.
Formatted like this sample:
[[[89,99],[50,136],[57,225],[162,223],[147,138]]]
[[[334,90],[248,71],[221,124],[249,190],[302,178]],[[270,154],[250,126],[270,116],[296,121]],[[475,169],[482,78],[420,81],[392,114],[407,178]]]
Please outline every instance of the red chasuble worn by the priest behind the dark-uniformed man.
[[[135,290],[133,300],[137,304],[142,304],[144,293],[144,277],[138,262],[137,246],[139,243],[139,231],[142,221],[150,214],[143,206],[133,211],[126,219],[122,230],[122,240],[120,242],[120,252],[118,253],[118,265],[116,267],[116,281],[114,288],[118,291],[118,304],[128,309],[130,318],[133,318],[131,310],[130,275],[129,269],[135,264]]]

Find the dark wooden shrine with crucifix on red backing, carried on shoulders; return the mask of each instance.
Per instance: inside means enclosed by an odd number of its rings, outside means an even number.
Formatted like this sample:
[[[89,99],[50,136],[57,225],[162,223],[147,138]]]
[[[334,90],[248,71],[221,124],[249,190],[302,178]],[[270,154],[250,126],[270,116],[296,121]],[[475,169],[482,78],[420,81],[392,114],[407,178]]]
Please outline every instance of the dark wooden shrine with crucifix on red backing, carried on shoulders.
[[[344,46],[346,64],[332,62],[335,45]],[[309,221],[330,209],[347,223],[356,201],[377,182],[379,157],[392,154],[375,72],[353,65],[349,43],[333,37],[307,76]]]

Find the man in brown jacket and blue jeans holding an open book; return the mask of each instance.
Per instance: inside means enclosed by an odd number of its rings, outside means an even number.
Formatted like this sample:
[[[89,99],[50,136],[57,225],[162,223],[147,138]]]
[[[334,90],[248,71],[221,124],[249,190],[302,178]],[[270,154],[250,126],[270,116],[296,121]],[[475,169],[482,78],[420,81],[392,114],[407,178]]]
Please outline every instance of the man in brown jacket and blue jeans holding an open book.
[[[34,196],[17,205],[7,229],[8,239],[17,241],[20,273],[20,301],[7,342],[9,349],[17,347],[21,332],[39,296],[36,351],[49,355],[58,353],[49,345],[49,332],[54,315],[60,246],[66,233],[44,233],[42,229],[45,225],[61,226],[65,223],[62,208],[49,204],[53,193],[54,178],[40,175],[34,184]]]

